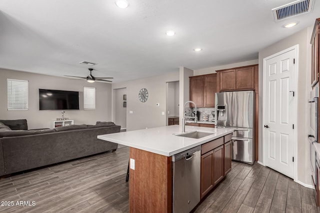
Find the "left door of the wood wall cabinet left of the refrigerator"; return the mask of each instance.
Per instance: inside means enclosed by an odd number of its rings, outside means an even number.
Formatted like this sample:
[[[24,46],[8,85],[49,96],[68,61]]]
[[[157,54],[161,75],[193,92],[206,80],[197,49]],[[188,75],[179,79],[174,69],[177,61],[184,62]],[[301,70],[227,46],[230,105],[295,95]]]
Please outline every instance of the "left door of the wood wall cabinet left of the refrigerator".
[[[196,107],[203,107],[203,76],[191,76],[189,78],[189,98],[195,103]]]

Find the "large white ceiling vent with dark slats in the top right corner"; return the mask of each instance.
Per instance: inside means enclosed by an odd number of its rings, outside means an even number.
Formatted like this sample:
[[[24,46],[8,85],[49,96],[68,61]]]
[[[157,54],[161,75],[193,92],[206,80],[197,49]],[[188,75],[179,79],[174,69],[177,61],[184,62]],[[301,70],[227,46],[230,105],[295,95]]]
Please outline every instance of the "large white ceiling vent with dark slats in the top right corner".
[[[314,0],[296,0],[272,9],[274,21],[280,21],[295,15],[312,11]]]

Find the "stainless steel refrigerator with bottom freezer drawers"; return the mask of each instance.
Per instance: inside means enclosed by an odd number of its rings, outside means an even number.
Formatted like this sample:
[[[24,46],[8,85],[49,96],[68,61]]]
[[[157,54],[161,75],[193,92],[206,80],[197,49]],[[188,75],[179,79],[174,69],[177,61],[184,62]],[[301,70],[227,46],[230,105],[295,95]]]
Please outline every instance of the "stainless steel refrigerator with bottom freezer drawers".
[[[254,92],[215,93],[216,128],[233,129],[231,159],[254,163]]]

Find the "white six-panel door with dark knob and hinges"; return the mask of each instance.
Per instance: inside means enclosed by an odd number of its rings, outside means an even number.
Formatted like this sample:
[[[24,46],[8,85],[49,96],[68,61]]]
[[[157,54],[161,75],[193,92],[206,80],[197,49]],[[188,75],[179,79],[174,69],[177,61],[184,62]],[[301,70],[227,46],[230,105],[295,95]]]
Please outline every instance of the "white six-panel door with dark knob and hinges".
[[[295,53],[294,48],[263,60],[265,166],[290,178],[294,178]]]

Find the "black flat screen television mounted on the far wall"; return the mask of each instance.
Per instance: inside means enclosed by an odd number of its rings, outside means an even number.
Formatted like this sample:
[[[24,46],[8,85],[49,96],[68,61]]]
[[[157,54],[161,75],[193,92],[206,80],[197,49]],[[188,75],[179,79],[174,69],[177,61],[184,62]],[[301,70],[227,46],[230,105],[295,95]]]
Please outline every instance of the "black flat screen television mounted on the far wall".
[[[79,109],[79,92],[39,89],[39,110]]]

